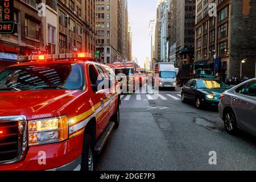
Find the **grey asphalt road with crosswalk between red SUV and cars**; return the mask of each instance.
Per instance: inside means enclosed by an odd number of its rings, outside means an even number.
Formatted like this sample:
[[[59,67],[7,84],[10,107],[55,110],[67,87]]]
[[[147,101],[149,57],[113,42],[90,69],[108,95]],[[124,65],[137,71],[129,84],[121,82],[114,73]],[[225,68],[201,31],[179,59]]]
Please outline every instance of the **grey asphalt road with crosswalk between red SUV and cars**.
[[[123,96],[121,125],[97,170],[256,170],[256,139],[228,135],[216,109],[183,104],[179,90],[161,90],[156,100],[148,93]],[[210,151],[216,165],[209,164]]]

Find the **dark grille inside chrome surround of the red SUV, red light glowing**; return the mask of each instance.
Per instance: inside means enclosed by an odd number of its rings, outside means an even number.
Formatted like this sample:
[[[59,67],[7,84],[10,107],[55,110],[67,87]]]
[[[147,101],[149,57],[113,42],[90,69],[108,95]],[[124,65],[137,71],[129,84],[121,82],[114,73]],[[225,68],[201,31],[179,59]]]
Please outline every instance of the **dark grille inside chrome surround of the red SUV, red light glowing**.
[[[18,156],[18,122],[0,122],[0,162]]]

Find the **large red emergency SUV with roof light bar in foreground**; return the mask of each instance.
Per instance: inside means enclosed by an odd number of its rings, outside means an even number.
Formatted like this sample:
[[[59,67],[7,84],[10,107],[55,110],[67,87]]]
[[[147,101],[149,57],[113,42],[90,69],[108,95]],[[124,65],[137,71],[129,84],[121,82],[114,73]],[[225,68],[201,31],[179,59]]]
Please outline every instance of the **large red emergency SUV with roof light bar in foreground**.
[[[120,93],[112,69],[86,57],[23,56],[0,73],[0,170],[94,169]]]

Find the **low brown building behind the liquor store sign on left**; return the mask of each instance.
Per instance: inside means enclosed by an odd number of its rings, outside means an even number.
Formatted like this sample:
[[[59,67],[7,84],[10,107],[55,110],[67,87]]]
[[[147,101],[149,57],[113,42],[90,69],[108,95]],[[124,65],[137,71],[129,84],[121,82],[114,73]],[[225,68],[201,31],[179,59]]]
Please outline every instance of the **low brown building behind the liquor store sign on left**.
[[[0,34],[0,71],[15,64],[19,55],[43,53],[48,47],[47,51],[56,51],[57,4],[40,2],[47,5],[44,13],[48,13],[48,17],[39,15],[39,1],[14,1],[14,32]],[[48,27],[52,27],[51,33]]]

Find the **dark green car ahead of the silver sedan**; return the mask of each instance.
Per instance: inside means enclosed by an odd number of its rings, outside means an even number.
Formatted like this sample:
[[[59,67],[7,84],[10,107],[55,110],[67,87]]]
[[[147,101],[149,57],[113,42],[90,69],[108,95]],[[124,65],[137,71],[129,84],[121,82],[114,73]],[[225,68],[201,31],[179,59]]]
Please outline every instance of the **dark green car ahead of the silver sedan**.
[[[202,106],[218,106],[223,92],[230,89],[224,82],[213,78],[199,78],[187,82],[181,89],[182,102],[196,103],[197,109]]]

